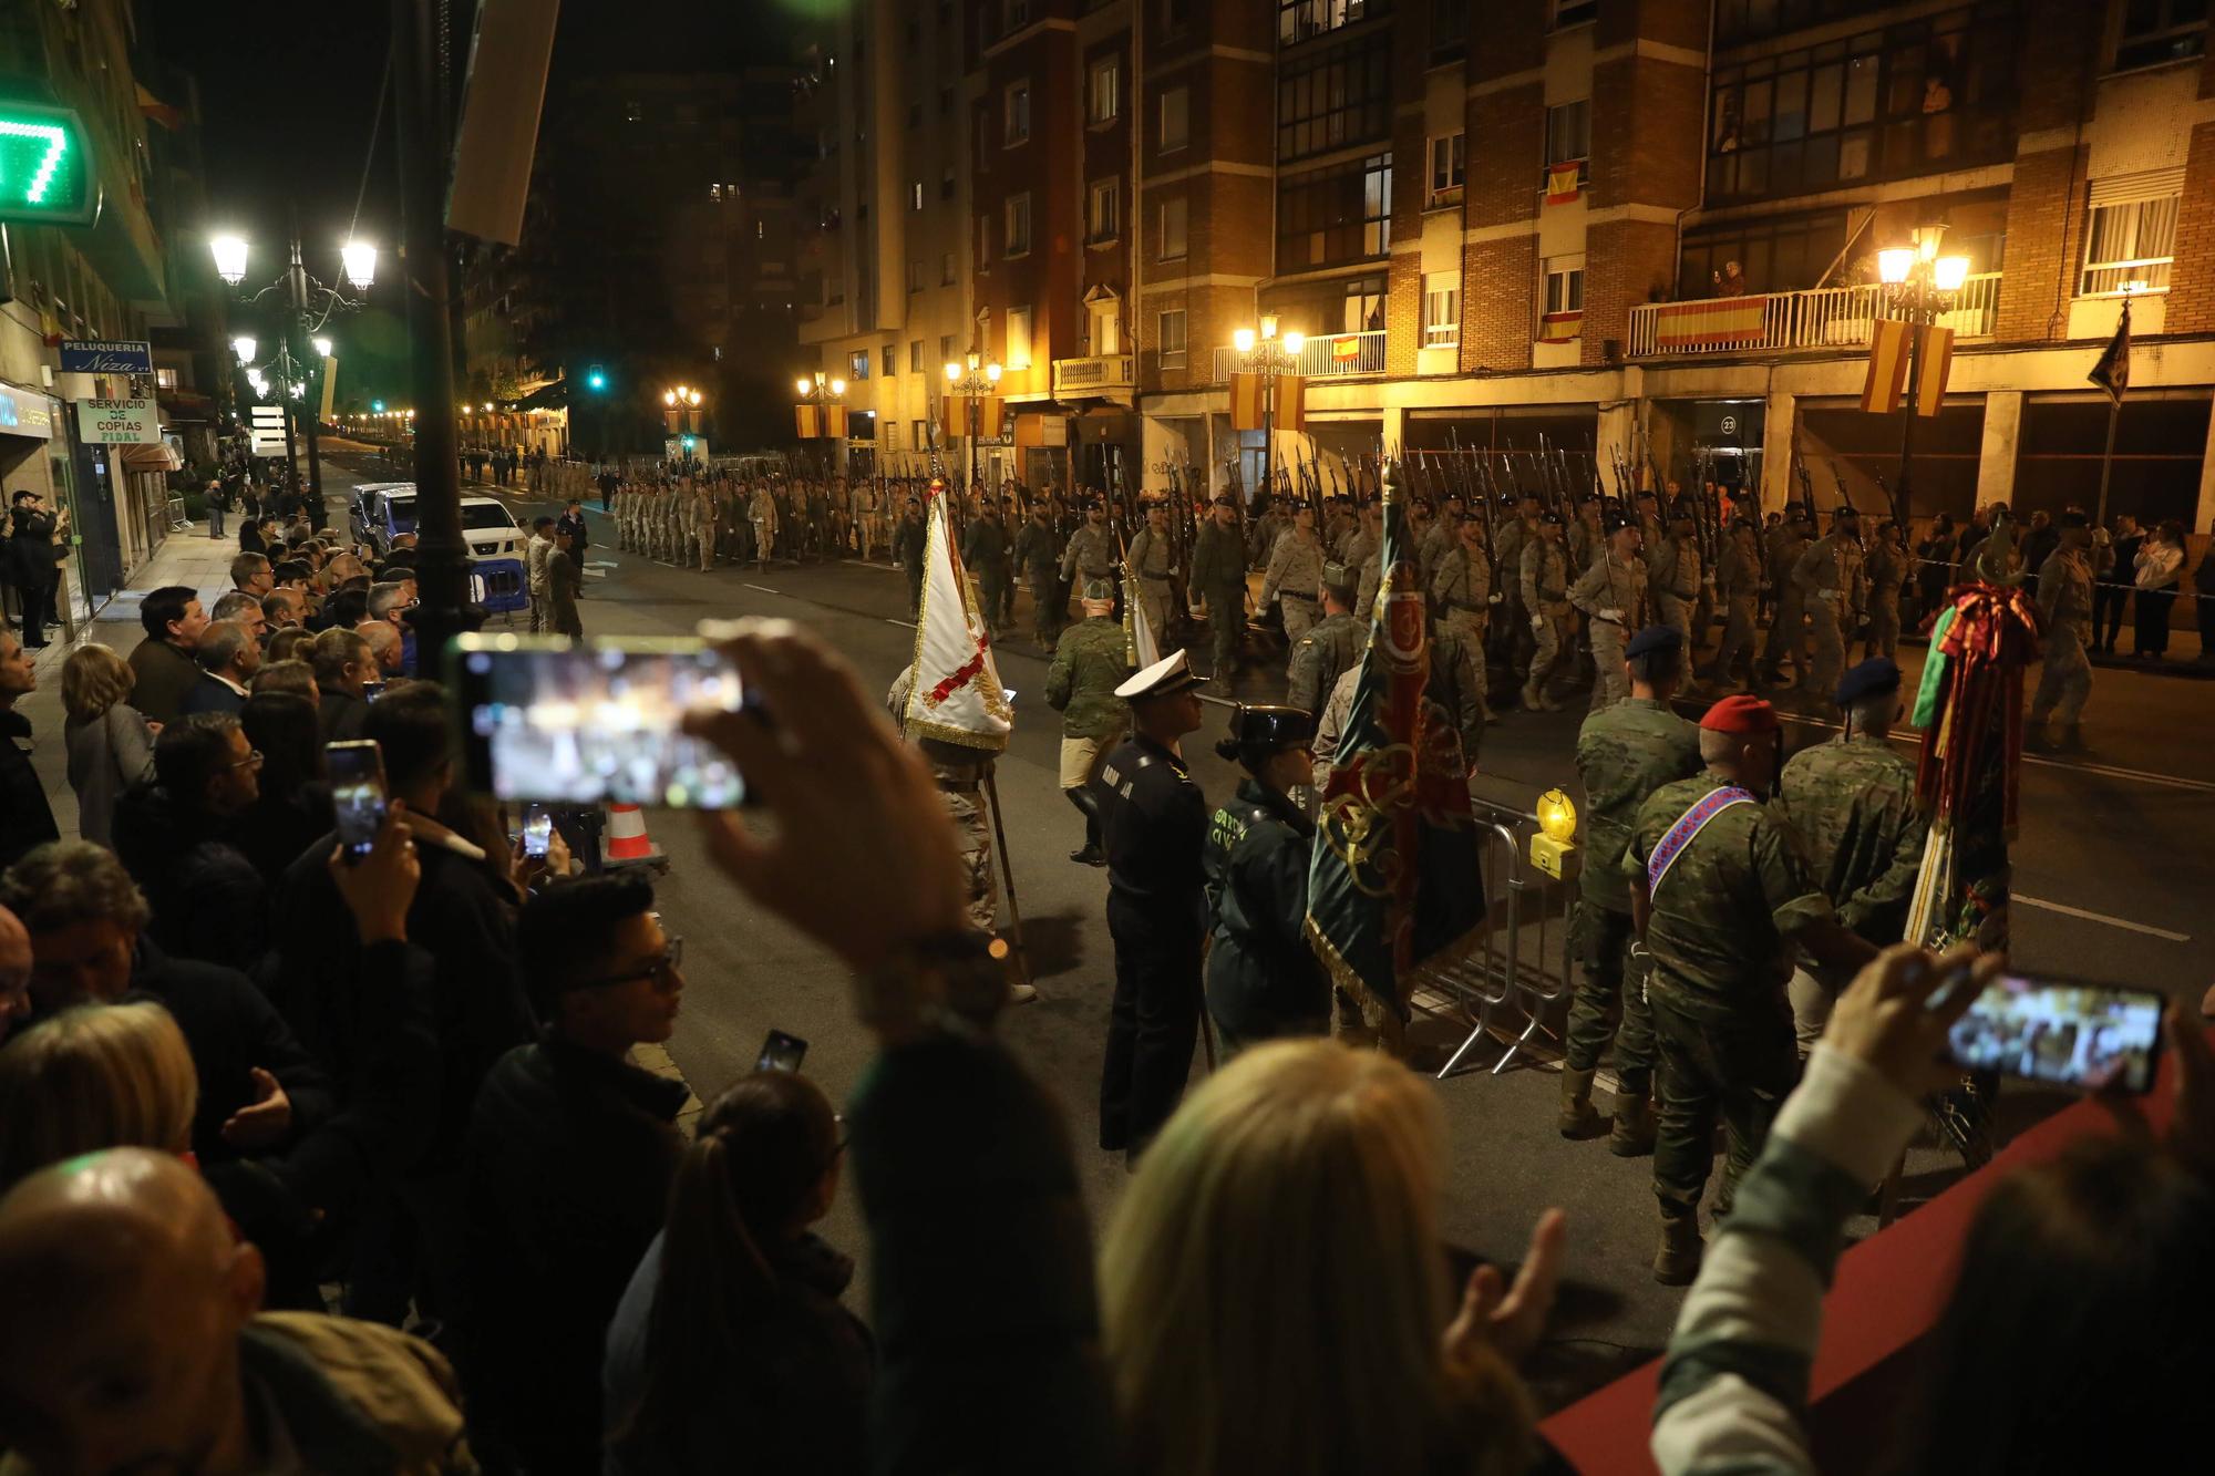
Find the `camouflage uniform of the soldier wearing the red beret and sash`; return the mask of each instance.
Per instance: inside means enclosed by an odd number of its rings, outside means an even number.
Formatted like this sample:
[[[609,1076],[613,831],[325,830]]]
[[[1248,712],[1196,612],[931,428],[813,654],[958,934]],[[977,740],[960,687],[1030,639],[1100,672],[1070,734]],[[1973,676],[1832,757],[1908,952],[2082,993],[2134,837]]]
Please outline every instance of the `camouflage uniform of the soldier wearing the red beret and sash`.
[[[1630,829],[1624,875],[1644,882],[1661,838],[1719,787],[1699,773],[1657,789]],[[1725,1197],[1761,1155],[1799,1079],[1779,997],[1783,940],[1830,915],[1807,862],[1759,802],[1714,816],[1661,878],[1646,922],[1646,1000],[1659,1064],[1655,1197],[1663,1219],[1699,1212],[1717,1115],[1730,1128]]]

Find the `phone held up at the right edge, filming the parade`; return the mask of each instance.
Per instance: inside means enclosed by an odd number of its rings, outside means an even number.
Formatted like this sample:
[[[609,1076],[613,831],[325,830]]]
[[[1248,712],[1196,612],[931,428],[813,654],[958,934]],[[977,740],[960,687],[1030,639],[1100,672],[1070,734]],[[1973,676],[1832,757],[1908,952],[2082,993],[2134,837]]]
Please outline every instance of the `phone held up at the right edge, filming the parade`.
[[[1954,1062],[2027,1082],[2144,1093],[2162,1050],[2151,988],[2000,975],[1947,1033]]]

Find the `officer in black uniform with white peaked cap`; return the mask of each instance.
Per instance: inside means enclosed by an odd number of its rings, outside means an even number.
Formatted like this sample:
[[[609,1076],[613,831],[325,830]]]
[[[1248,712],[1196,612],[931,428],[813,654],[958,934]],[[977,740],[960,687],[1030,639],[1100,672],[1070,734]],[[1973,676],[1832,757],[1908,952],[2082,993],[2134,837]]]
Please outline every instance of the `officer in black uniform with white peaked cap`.
[[[1185,654],[1174,652],[1116,687],[1130,703],[1132,736],[1108,754],[1096,780],[1114,940],[1101,1148],[1132,1159],[1176,1110],[1201,1028],[1207,800],[1176,747],[1201,727],[1198,685]]]

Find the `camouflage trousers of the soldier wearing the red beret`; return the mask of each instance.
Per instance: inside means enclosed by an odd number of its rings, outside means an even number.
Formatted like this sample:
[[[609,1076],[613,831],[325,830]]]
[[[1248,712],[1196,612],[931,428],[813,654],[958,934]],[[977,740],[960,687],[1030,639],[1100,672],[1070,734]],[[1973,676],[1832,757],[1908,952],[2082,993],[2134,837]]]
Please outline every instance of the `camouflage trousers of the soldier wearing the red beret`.
[[[1774,1000],[1743,1015],[1701,1019],[1648,993],[1655,1017],[1655,1197],[1699,1208],[1714,1166],[1714,1121],[1730,1130],[1721,1203],[1761,1157],[1776,1110],[1799,1084],[1792,1019]]]

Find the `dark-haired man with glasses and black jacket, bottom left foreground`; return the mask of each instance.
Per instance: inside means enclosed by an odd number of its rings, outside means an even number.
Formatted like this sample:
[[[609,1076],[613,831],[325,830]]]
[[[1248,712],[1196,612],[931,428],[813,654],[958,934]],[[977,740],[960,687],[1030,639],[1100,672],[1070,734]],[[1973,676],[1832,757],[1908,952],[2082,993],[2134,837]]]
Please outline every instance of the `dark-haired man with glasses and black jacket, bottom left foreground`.
[[[518,942],[547,1024],[501,1057],[470,1119],[470,1445],[494,1467],[591,1476],[607,1323],[684,1152],[684,1084],[627,1055],[669,1039],[684,975],[636,871],[534,895]]]

